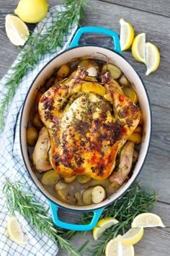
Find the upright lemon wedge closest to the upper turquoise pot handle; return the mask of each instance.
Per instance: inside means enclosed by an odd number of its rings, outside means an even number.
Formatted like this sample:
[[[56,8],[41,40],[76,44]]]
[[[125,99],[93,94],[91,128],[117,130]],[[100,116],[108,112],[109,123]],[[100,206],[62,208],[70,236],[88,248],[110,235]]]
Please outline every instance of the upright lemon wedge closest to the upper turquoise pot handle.
[[[123,19],[120,19],[120,48],[122,51],[128,50],[133,43],[133,26]]]

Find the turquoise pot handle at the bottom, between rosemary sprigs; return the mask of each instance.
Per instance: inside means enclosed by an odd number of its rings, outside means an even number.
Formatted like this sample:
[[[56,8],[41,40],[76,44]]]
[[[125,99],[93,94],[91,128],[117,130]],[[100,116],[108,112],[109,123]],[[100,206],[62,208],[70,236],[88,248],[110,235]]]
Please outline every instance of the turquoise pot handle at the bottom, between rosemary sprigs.
[[[76,230],[76,231],[88,231],[91,229],[94,229],[94,226],[97,226],[97,222],[99,221],[99,217],[102,214],[102,211],[104,208],[101,208],[99,210],[93,210],[94,216],[91,220],[91,223],[89,224],[71,224],[67,222],[60,221],[58,219],[58,208],[60,208],[58,205],[55,205],[54,202],[50,201],[50,210],[52,213],[52,218],[56,226],[59,226],[60,228],[63,229],[70,229],[70,230]]]

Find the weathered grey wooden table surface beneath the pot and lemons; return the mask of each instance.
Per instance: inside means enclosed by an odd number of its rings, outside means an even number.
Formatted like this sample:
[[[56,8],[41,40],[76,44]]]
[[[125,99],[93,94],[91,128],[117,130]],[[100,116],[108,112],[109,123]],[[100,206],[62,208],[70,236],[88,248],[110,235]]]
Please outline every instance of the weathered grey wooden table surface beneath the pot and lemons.
[[[18,54],[17,47],[6,37],[4,18],[13,13],[18,0],[0,0],[0,77],[2,77]],[[166,226],[170,226],[170,1],[169,0],[105,0],[89,1],[91,8],[86,9],[81,25],[107,27],[120,33],[121,17],[133,24],[135,33],[146,33],[146,40],[155,43],[161,52],[158,70],[146,77],[144,64],[136,62],[130,51],[124,56],[135,67],[146,84],[153,112],[153,135],[151,148],[138,180],[143,181],[147,191],[155,189],[158,202],[153,212],[158,213]],[[60,1],[48,0],[50,7]],[[84,43],[95,40],[84,38]],[[107,46],[109,40],[104,40]],[[87,239],[92,242],[90,232],[86,236],[73,238],[75,248]],[[166,229],[147,229],[143,239],[135,245],[138,256],[168,256],[170,247],[170,227]],[[66,255],[60,252],[58,255]],[[86,254],[84,254],[86,255]]]

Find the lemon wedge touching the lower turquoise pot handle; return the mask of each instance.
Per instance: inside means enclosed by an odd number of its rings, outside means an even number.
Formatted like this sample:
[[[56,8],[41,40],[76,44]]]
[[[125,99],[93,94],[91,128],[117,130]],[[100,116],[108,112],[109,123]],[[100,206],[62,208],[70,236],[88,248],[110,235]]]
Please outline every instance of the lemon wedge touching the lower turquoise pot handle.
[[[107,217],[102,218],[102,220],[97,222],[97,226],[93,229],[93,238],[94,240],[97,240],[99,236],[102,236],[102,233],[109,229],[111,226],[117,224],[119,221],[117,221],[116,218]]]

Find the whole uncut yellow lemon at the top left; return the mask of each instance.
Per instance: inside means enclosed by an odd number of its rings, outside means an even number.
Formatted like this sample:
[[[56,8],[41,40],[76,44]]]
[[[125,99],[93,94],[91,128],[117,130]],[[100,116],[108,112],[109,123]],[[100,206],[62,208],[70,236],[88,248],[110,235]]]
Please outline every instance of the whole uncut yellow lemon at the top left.
[[[48,12],[45,0],[20,0],[14,13],[27,23],[40,22]]]

